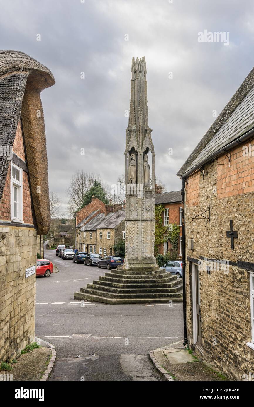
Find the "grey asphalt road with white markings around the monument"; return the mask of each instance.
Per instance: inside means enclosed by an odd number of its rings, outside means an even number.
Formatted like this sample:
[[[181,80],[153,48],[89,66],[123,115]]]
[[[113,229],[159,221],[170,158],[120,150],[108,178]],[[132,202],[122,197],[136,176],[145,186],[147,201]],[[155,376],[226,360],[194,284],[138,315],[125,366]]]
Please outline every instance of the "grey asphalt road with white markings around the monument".
[[[59,270],[49,278],[36,279],[35,334],[57,351],[50,380],[160,380],[148,353],[183,341],[182,304],[73,300],[74,291],[106,269],[62,260],[54,250],[45,250],[44,258]]]

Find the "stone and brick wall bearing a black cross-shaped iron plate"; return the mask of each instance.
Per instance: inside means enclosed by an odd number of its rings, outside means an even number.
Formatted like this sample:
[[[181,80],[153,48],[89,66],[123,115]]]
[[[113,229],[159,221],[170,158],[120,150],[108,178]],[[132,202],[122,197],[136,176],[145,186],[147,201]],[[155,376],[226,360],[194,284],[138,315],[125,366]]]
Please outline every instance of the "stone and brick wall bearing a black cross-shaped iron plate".
[[[231,152],[230,166],[228,158],[222,156],[205,166],[204,176],[198,171],[186,182],[186,242],[191,238],[194,242],[193,250],[186,248],[187,256],[232,262],[228,273],[199,271],[204,359],[237,380],[254,372],[254,350],[246,345],[251,341],[250,275],[237,267],[237,260],[254,262],[253,162],[254,158],[242,160],[239,146]],[[209,207],[210,223],[192,219],[200,217]],[[209,211],[204,216],[209,216]],[[234,230],[238,231],[234,249],[226,236],[231,219]],[[194,298],[189,260],[186,261],[186,291],[188,339],[193,346]]]

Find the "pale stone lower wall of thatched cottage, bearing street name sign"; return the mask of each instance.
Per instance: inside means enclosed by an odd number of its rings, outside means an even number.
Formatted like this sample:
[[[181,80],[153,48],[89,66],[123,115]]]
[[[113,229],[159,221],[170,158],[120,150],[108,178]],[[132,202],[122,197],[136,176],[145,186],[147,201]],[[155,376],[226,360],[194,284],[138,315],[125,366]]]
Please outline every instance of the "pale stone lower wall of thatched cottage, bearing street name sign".
[[[12,359],[34,339],[36,264],[33,228],[0,226],[0,361]]]

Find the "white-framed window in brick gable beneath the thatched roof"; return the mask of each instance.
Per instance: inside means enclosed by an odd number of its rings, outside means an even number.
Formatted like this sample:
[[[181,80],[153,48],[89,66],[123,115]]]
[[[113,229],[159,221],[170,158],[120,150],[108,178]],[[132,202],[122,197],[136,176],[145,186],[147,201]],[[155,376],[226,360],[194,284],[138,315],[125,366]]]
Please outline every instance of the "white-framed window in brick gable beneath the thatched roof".
[[[23,221],[22,168],[11,162],[11,219]]]

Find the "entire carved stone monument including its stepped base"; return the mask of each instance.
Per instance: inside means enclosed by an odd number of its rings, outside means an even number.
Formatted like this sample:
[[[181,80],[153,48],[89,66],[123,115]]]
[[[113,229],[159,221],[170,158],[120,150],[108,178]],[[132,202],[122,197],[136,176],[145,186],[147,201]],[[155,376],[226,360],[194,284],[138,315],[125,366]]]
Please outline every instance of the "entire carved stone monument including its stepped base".
[[[93,284],[74,292],[74,299],[107,304],[182,301],[183,284],[159,269],[155,243],[155,152],[148,127],[146,60],[133,58],[130,115],[126,129],[125,258]],[[110,268],[110,263],[108,263]]]

